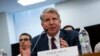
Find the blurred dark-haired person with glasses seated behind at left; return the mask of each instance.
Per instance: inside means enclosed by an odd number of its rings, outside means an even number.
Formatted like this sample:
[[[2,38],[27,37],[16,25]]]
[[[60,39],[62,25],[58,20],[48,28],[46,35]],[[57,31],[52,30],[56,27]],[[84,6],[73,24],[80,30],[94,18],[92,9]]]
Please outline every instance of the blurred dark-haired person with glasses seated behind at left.
[[[28,33],[22,33],[19,37],[19,50],[18,56],[30,56],[31,55],[31,40],[32,37]]]

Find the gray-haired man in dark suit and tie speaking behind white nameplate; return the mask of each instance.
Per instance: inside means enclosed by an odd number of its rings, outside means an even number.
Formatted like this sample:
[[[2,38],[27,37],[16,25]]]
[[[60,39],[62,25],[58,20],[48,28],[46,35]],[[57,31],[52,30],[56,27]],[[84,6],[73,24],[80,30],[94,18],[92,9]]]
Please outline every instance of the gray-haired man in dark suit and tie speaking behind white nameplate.
[[[78,34],[76,34],[74,31],[65,31],[60,29],[61,20],[56,9],[45,9],[41,14],[40,19],[45,33],[33,38],[31,56],[37,56],[38,51],[80,45]],[[53,38],[55,39],[55,47],[51,41]]]

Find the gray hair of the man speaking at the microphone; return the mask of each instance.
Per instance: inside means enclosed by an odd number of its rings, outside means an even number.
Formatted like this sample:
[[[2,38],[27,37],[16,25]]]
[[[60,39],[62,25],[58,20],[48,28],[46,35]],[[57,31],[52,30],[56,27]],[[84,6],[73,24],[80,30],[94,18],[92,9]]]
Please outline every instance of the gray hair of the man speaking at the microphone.
[[[43,21],[43,16],[45,13],[55,13],[60,18],[58,11],[55,8],[46,8],[40,15],[40,20]]]

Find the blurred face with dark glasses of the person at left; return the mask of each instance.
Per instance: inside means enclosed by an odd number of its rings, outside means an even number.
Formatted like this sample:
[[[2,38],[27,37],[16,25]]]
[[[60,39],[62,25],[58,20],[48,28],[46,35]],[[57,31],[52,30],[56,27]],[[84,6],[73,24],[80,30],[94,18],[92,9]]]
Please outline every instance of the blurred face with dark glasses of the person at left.
[[[20,41],[20,47],[22,49],[26,49],[26,48],[29,48],[31,46],[29,36],[27,36],[27,35],[20,36],[19,41]]]

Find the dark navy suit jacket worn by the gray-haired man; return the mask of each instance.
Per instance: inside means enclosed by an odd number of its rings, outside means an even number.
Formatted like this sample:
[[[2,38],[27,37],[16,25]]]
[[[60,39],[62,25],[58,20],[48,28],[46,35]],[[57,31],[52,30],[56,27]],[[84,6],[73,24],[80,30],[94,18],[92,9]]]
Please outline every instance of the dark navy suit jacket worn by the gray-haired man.
[[[69,46],[78,45],[79,51],[81,51],[77,31],[60,30],[60,36],[59,37],[62,37],[65,41],[67,41]],[[39,41],[36,44],[37,39],[39,39]],[[35,44],[36,44],[36,46],[34,48]],[[42,35],[38,35],[38,36],[33,38],[33,40],[32,40],[32,49],[34,49],[34,50],[32,50],[31,56],[37,56],[38,51],[49,50],[48,37],[47,37],[46,33],[44,33]]]

